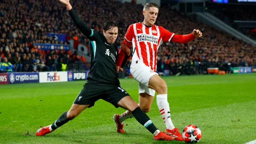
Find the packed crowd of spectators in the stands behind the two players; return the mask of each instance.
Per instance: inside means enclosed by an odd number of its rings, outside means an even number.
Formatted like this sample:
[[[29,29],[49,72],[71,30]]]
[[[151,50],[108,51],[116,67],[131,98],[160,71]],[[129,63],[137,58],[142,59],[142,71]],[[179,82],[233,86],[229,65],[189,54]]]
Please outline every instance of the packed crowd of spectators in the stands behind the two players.
[[[142,22],[143,6],[117,0],[71,1],[74,10],[91,28],[102,31],[106,20],[119,23],[116,44],[124,40],[130,24]],[[84,8],[84,6],[90,8]],[[256,48],[212,26],[191,19],[170,8],[161,7],[156,25],[175,34],[189,34],[193,29],[203,32],[188,44],[164,43],[158,50],[158,72],[170,70],[171,74],[194,74],[196,65],[219,67],[256,66]],[[39,52],[34,43],[67,44],[47,37],[45,32],[64,33],[88,44],[86,38],[73,24],[68,11],[59,2],[48,0],[8,0],[0,5],[0,64],[2,71],[55,71],[61,64],[81,61],[70,51]],[[200,62],[200,63],[199,63]],[[4,66],[3,66],[4,64]],[[56,66],[59,65],[59,66]],[[126,64],[129,68],[129,62]],[[1,71],[1,69],[0,69]]]

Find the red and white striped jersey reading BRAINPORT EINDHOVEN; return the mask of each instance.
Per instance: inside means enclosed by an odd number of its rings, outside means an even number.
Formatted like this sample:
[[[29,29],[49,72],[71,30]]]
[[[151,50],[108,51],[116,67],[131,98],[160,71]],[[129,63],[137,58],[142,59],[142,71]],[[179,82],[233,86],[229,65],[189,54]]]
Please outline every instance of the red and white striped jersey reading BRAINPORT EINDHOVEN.
[[[157,50],[163,42],[170,42],[173,36],[174,33],[162,26],[147,27],[142,23],[135,23],[129,26],[124,38],[132,42],[134,48],[132,61],[134,58],[140,60],[156,72]]]

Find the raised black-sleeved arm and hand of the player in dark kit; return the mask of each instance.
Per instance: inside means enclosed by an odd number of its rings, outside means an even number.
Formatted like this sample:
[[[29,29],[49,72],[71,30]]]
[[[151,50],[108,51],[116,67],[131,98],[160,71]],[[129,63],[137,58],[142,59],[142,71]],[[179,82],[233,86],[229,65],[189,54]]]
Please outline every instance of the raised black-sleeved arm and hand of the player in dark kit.
[[[64,4],[74,22],[74,24],[79,28],[79,30],[85,35],[85,36],[92,36],[93,30],[87,26],[82,20],[80,20],[78,14],[74,11],[72,8],[69,0],[59,0],[62,4]]]

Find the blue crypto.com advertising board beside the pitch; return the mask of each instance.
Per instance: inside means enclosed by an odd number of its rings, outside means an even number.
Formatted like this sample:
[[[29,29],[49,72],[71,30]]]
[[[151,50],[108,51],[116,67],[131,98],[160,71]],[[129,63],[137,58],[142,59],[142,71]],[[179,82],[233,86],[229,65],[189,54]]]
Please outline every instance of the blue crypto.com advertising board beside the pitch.
[[[12,72],[8,73],[9,84],[39,82],[38,72]]]

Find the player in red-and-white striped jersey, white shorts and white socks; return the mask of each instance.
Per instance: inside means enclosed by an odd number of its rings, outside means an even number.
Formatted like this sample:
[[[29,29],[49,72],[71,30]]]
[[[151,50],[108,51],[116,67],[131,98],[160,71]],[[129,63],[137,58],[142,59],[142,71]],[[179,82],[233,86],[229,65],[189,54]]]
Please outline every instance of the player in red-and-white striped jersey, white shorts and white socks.
[[[132,44],[134,49],[130,72],[135,80],[139,82],[140,108],[144,112],[150,111],[156,91],[156,102],[166,125],[166,134],[174,136],[175,140],[182,141],[182,135],[178,132],[178,128],[174,127],[170,117],[166,83],[156,73],[157,50],[163,42],[187,43],[196,37],[201,37],[202,32],[194,29],[191,34],[178,35],[169,32],[162,26],[156,26],[154,23],[158,16],[158,10],[157,4],[147,3],[143,9],[144,21],[129,26],[124,37],[124,43],[127,46],[119,51],[120,56],[117,59],[117,66],[121,66],[121,62],[125,54],[130,51],[129,48]],[[132,117],[132,113],[129,111],[121,115],[115,114],[114,118],[118,124],[117,131],[122,132],[121,128],[124,120]]]

